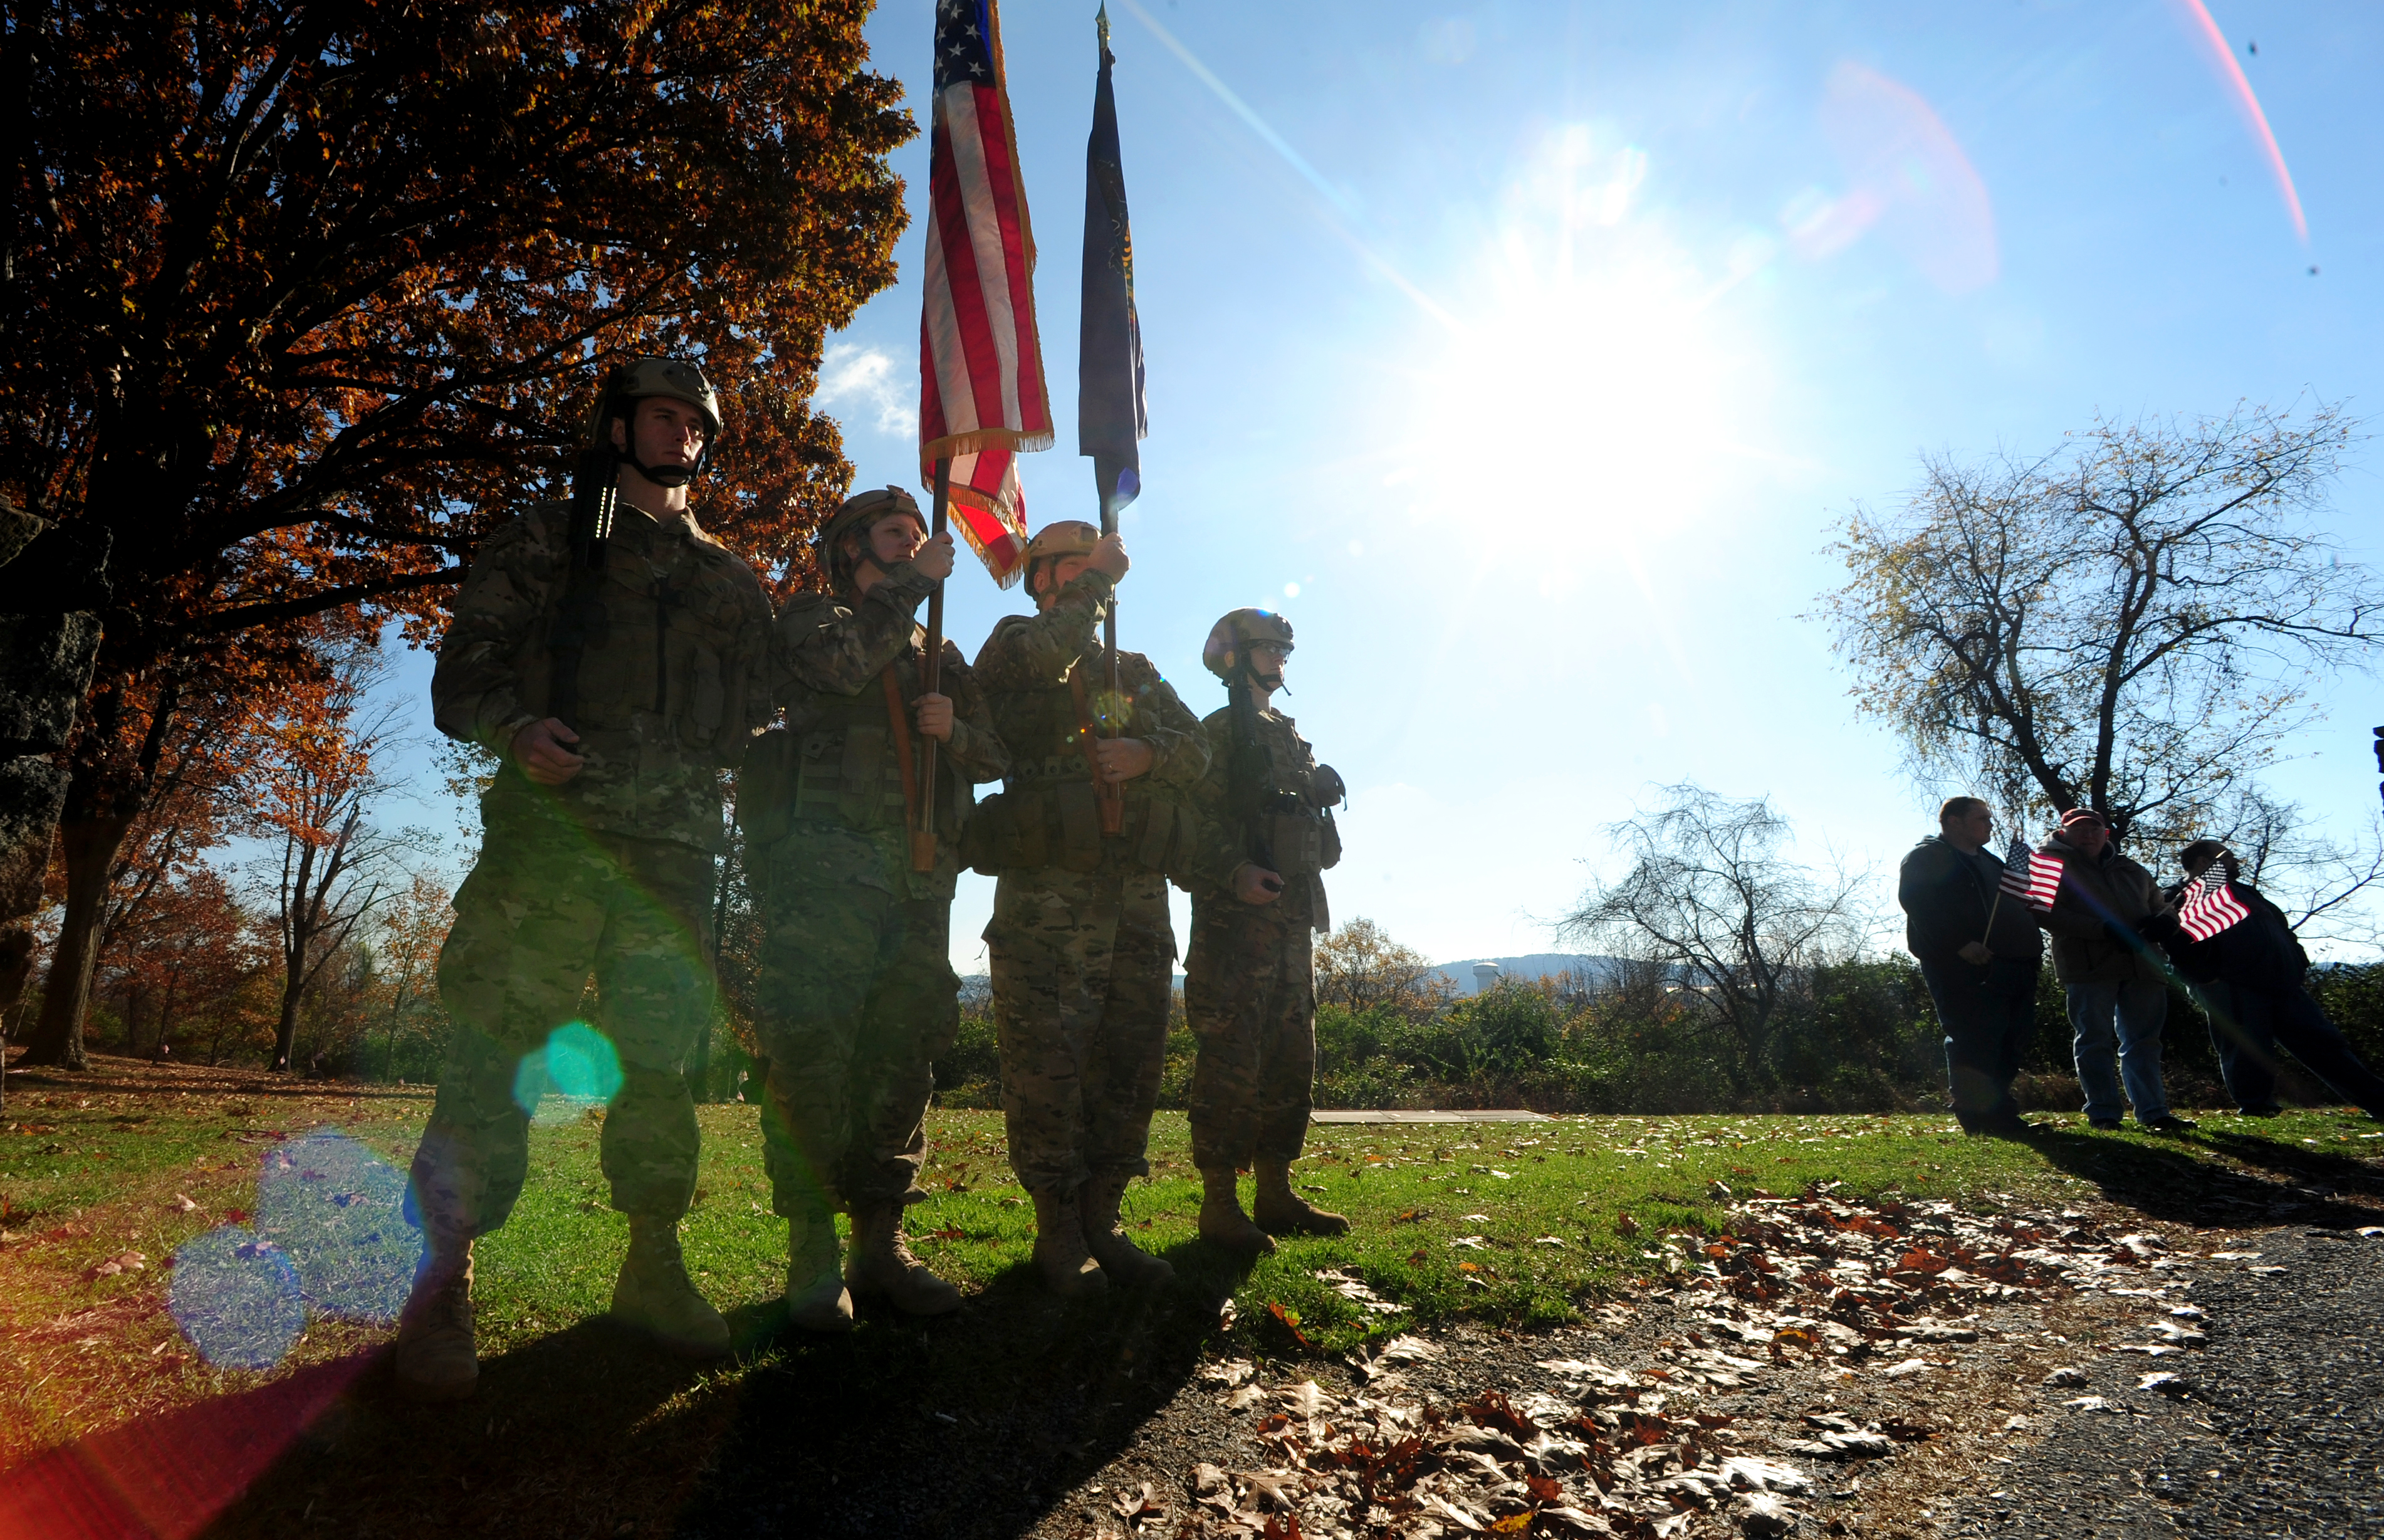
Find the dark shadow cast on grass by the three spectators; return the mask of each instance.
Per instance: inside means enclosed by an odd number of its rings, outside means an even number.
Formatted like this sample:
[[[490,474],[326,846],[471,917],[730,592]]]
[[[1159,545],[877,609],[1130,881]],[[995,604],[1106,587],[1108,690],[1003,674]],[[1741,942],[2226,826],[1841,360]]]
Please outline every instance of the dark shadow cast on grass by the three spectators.
[[[2103,1190],[2115,1204],[2184,1225],[2322,1228],[2370,1225],[2374,1209],[2334,1201],[2332,1192],[2379,1192],[2374,1173],[2358,1161],[2303,1154],[2274,1140],[2198,1132],[2186,1140],[2129,1140],[2072,1130],[2041,1130],[2034,1144],[2062,1170]],[[2203,1144],[2255,1170],[2196,1159]]]

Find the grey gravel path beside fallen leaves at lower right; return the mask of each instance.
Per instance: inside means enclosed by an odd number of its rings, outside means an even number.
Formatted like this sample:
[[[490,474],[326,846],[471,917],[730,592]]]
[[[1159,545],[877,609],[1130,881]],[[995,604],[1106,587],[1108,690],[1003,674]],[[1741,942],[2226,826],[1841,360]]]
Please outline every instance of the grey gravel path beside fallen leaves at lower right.
[[[2143,1321],[2208,1347],[2081,1349],[2084,1380],[2041,1390],[2043,1442],[1943,1514],[1948,1540],[2384,1535],[2384,1230],[2253,1232],[2169,1283]]]

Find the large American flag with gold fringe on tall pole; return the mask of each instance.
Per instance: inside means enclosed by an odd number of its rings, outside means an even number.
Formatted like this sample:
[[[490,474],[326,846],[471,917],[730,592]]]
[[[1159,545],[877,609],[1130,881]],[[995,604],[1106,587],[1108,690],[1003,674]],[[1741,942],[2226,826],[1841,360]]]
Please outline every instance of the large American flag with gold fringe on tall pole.
[[[1018,453],[1051,446],[1035,231],[1001,83],[994,0],[937,0],[927,169],[927,298],[918,317],[918,462],[951,460],[951,505],[994,582],[1018,582],[1028,510]]]

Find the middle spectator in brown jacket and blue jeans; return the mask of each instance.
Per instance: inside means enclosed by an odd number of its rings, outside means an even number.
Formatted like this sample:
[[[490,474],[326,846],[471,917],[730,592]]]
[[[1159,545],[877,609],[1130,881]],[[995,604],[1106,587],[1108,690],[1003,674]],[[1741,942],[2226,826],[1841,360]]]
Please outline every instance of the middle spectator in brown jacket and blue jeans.
[[[2038,846],[2060,856],[2062,887],[2041,925],[2053,932],[2053,977],[2069,996],[2069,1027],[2086,1120],[2119,1128],[2119,1089],[2136,1123],[2153,1132],[2184,1132],[2160,1082],[2160,1027],[2169,1013],[2169,982],[2146,939],[2172,932],[2177,911],[2160,882],[2112,846],[2100,813],[2072,808],[2057,834]]]

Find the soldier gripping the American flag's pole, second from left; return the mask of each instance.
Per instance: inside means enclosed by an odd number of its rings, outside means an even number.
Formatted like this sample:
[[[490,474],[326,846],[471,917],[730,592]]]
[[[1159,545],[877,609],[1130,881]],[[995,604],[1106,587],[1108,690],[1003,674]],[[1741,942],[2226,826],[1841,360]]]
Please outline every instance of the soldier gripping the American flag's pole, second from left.
[[[820,529],[827,594],[777,617],[787,732],[749,756],[737,815],[765,923],[760,1037],[770,1056],[763,1156],[787,1216],[787,1311],[808,1330],[853,1323],[851,1290],[913,1316],[958,1309],[901,1235],[925,1197],[918,1166],[930,1066],[961,1025],[951,889],[970,787],[1008,758],[961,651],[939,691],[911,613],[951,572],[951,536],[899,486],[865,491]],[[939,744],[935,834],[923,839],[920,739]],[[837,1275],[837,1221],[853,1247]]]

